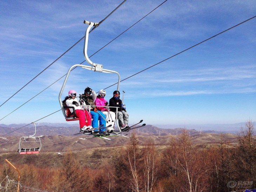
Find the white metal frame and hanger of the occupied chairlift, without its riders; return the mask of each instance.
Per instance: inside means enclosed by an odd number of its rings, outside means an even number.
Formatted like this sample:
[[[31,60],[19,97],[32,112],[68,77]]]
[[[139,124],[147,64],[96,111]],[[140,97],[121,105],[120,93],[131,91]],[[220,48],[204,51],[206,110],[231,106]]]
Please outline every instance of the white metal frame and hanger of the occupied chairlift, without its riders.
[[[67,83],[70,71],[72,69],[74,69],[75,67],[82,67],[84,69],[88,69],[88,70],[95,71],[95,72],[100,72],[100,73],[103,72],[103,73],[115,73],[115,74],[117,74],[118,82],[117,82],[117,89],[116,90],[119,90],[119,84],[120,84],[120,75],[119,75],[119,73],[117,73],[116,71],[113,71],[113,70],[103,69],[102,64],[97,64],[97,63],[92,62],[89,59],[88,54],[87,54],[89,31],[93,26],[97,26],[99,23],[93,23],[93,22],[89,22],[89,21],[86,21],[86,20],[83,23],[89,25],[88,28],[86,29],[86,32],[85,32],[85,42],[84,42],[84,45],[83,45],[83,55],[84,55],[85,60],[87,61],[87,63],[90,64],[90,66],[75,64],[72,67],[70,67],[68,72],[67,72],[66,78],[63,82],[63,85],[62,85],[62,88],[61,88],[60,94],[59,94],[60,107],[61,107],[63,116],[65,117],[66,121],[79,120],[79,118],[75,114],[74,107],[67,107],[66,103],[62,103],[62,101],[61,101],[61,95],[62,95],[62,92],[65,88],[66,83]],[[73,113],[70,112],[70,109],[73,109]],[[117,117],[116,117],[116,122],[117,122]],[[116,123],[116,125],[119,128],[118,122]],[[120,128],[119,128],[119,130],[120,130]]]

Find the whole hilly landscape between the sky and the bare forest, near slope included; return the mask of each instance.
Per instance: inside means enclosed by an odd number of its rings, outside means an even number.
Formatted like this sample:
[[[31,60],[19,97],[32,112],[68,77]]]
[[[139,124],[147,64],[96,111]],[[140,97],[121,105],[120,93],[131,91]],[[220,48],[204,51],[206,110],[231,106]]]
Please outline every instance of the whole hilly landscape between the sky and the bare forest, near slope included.
[[[0,125],[0,157],[2,159],[6,158],[14,164],[59,167],[60,160],[63,158],[63,152],[71,150],[82,166],[94,168],[107,162],[114,156],[116,150],[123,150],[123,146],[125,147],[130,141],[129,138],[122,136],[109,137],[112,140],[83,134],[74,136],[73,134],[79,131],[78,124],[39,123],[36,124],[35,136],[39,136],[41,140],[42,148],[40,153],[35,155],[19,155],[17,151],[21,136],[34,134],[34,125],[21,128],[25,125]],[[218,148],[221,139],[224,142],[229,141],[230,146],[238,145],[238,136],[235,134],[223,133],[221,135],[217,134],[218,131],[216,130],[202,131],[200,133],[200,130],[188,129],[188,127],[186,126],[187,132],[195,148]],[[184,131],[184,128],[178,126],[171,127],[167,125],[165,128],[159,128],[155,125],[146,125],[143,128],[127,132],[127,136],[129,137],[131,133],[136,133],[141,147],[145,142],[150,141],[156,146],[157,152],[161,152],[168,147],[173,139],[178,139],[182,131]],[[29,139],[26,140],[28,141]],[[36,148],[40,143],[23,142],[21,145],[22,148]]]

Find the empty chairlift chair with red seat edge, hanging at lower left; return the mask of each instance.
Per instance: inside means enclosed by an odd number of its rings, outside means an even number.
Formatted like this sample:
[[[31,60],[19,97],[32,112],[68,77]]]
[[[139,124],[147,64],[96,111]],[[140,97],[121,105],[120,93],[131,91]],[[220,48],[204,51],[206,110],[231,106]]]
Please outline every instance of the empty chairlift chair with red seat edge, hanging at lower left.
[[[36,123],[33,123],[34,125]],[[36,125],[35,125],[35,133],[36,133]],[[34,133],[34,135],[35,135]],[[34,135],[29,135],[28,137],[21,137],[19,143],[18,153],[22,154],[35,154],[39,153],[42,148],[40,137],[35,137]],[[33,148],[29,148],[27,146],[36,146]]]

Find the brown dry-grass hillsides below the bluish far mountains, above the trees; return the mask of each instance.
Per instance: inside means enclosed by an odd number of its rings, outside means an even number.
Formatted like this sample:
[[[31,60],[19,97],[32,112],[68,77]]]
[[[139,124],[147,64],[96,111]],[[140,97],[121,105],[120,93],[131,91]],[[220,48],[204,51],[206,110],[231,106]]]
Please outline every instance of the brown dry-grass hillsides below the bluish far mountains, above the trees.
[[[19,137],[8,136],[0,138],[0,164],[8,159],[14,164],[33,164],[36,167],[59,167],[63,158],[63,152],[73,151],[76,159],[84,167],[98,168],[108,161],[119,150],[124,150],[129,138],[111,137],[113,140],[105,140],[97,137],[88,138],[85,135],[77,137],[69,136],[43,136],[42,150],[35,155],[19,155],[17,153]],[[160,153],[170,144],[172,139],[178,139],[179,135],[157,136],[157,134],[139,134],[139,145],[143,146],[146,141],[152,141]],[[191,136],[193,146],[196,148],[217,148],[221,141],[221,135],[203,133]],[[230,145],[237,145],[236,135],[223,134],[223,140],[229,141]]]

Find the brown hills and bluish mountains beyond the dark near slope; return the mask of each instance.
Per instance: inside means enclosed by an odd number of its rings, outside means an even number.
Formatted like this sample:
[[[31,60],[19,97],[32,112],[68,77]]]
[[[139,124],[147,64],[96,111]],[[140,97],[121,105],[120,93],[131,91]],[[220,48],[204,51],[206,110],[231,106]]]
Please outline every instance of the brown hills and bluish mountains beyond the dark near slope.
[[[12,132],[13,131],[13,132]],[[80,151],[83,149],[98,148],[101,146],[114,147],[126,145],[129,138],[122,136],[109,137],[112,140],[105,140],[94,137],[92,135],[79,134],[74,136],[74,133],[79,131],[79,126],[47,126],[37,125],[36,135],[39,136],[42,143],[42,152],[65,152],[68,149],[72,151]],[[146,125],[143,128],[134,129],[126,132],[128,137],[131,133],[136,133],[139,143],[143,145],[145,141],[153,141],[155,145],[168,145],[171,139],[178,138],[184,128],[162,129],[154,125]],[[187,129],[192,142],[199,148],[208,148],[212,145],[220,143],[221,135],[217,133],[202,132],[195,129]],[[9,134],[7,134],[9,133]],[[20,138],[34,134],[34,126],[24,128],[13,128],[9,126],[0,126],[0,153],[17,152],[19,149]],[[223,134],[224,140],[229,140],[233,145],[237,144],[237,135],[230,133]],[[28,139],[29,140],[29,139]],[[21,140],[21,142],[23,139]],[[40,143],[22,143],[22,148],[36,148]],[[24,146],[24,145],[36,146]]]

